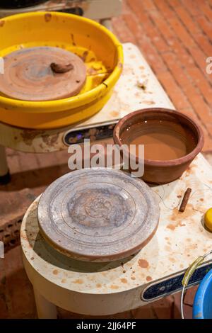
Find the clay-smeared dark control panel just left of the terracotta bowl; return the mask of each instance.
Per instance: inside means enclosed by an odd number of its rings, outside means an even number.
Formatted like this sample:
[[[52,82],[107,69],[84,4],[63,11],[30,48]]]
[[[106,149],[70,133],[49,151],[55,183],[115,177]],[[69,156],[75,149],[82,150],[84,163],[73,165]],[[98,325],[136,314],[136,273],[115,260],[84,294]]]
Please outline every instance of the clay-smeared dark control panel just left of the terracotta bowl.
[[[66,145],[73,145],[82,143],[85,139],[90,139],[90,142],[107,139],[107,137],[112,137],[115,125],[116,123],[112,123],[110,125],[97,126],[95,128],[69,130],[64,135],[64,143]]]

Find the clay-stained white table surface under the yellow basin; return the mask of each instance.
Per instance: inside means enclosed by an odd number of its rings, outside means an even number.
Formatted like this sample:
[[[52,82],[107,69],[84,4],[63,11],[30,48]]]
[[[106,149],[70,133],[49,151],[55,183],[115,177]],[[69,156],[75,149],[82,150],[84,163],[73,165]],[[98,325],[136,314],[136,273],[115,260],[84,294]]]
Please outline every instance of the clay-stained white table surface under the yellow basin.
[[[82,123],[57,130],[25,130],[0,123],[0,144],[23,152],[54,152],[67,149],[63,138],[70,129],[104,125],[141,108],[174,108],[138,47],[125,43],[123,49],[122,76],[110,101],[99,113]],[[141,80],[144,90],[138,85]]]

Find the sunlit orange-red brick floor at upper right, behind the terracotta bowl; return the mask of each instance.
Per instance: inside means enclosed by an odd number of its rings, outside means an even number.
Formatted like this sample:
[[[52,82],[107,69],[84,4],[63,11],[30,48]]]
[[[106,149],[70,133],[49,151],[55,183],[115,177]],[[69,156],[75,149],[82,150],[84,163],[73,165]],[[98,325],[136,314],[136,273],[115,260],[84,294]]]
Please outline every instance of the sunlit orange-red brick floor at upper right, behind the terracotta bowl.
[[[175,107],[204,130],[204,152],[212,151],[212,3],[209,0],[124,0],[113,19],[122,42],[139,46]]]

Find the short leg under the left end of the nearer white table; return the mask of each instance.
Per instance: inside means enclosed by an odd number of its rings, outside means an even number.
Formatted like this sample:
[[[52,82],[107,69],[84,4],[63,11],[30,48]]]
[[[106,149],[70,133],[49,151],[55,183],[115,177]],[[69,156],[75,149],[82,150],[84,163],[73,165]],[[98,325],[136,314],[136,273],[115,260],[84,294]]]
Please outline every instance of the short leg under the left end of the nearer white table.
[[[37,308],[37,317],[39,319],[57,319],[57,307],[46,300],[40,293],[35,290],[35,304]]]

